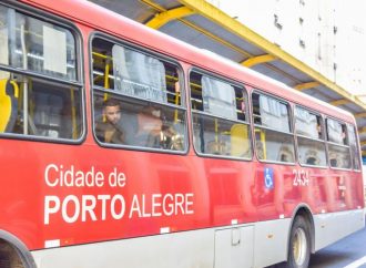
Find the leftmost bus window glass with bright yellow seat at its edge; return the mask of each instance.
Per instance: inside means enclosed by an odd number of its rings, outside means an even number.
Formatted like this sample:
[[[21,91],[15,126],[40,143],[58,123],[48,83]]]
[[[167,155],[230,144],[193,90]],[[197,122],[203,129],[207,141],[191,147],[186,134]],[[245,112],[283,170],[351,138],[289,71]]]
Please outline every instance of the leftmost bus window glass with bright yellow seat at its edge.
[[[69,30],[0,6],[0,133],[80,138],[75,55]]]

